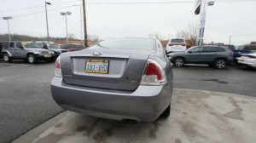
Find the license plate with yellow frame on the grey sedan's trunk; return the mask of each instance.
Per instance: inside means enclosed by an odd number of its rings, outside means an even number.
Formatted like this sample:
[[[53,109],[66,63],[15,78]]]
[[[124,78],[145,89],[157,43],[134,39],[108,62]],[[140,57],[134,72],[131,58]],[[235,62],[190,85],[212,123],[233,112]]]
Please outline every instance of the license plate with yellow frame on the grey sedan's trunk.
[[[84,72],[108,74],[109,60],[87,59]]]

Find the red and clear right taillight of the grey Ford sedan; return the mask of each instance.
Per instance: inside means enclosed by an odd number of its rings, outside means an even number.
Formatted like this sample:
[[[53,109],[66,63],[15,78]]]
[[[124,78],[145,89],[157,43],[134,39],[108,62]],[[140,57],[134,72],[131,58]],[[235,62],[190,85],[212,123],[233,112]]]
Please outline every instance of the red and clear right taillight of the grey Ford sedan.
[[[154,60],[148,60],[143,73],[141,84],[143,85],[161,85],[166,84],[166,74],[160,65]]]

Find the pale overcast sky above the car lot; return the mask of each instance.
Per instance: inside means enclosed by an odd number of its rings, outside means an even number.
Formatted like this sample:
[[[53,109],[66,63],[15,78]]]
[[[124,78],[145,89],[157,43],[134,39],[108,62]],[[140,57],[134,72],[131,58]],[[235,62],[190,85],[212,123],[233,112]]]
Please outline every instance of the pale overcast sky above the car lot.
[[[190,3],[154,3],[189,1]],[[80,10],[78,0],[49,0],[49,36],[65,37],[65,19],[68,15],[68,33],[80,38]],[[177,31],[199,23],[191,0],[86,0],[88,33],[104,38],[148,37],[158,33],[166,39],[176,37]],[[154,4],[93,4],[122,2],[152,2]],[[0,0],[0,17],[13,16],[11,33],[35,37],[46,36],[44,0]],[[218,0],[207,8],[206,42],[244,44],[256,41],[256,0]],[[64,8],[66,7],[66,8]],[[34,9],[32,9],[34,8]],[[40,13],[41,12],[41,13]],[[32,14],[37,13],[37,14]],[[6,20],[0,20],[0,33],[7,33]]]

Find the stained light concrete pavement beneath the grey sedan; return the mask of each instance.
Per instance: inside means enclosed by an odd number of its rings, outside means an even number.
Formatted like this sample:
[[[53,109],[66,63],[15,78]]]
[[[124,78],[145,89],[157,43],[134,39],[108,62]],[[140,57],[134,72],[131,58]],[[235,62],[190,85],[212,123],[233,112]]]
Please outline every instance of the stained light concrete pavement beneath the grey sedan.
[[[64,112],[14,143],[255,143],[256,98],[175,89],[171,117],[125,123]]]

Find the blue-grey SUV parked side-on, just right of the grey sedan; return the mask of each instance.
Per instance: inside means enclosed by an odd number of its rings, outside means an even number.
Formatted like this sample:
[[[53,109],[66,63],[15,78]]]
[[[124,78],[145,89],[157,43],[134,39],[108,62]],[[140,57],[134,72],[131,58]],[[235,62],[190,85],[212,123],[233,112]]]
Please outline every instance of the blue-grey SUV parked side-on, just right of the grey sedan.
[[[184,64],[207,64],[218,69],[233,61],[233,52],[221,46],[192,47],[181,53],[168,54],[174,66]]]

